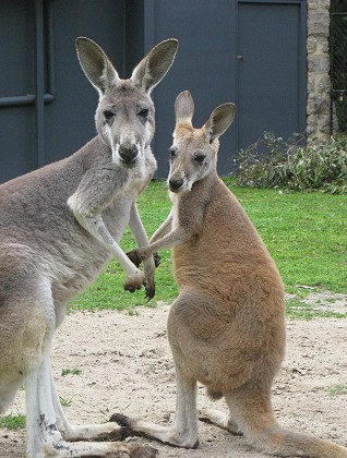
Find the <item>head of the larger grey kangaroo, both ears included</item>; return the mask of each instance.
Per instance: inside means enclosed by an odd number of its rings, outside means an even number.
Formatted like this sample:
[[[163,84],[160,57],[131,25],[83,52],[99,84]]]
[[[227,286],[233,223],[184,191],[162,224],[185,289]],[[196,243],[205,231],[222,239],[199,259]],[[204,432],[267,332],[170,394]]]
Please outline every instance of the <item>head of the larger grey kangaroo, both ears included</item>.
[[[176,39],[160,43],[136,65],[129,80],[122,80],[98,45],[88,38],[76,39],[80,64],[99,93],[96,129],[111,148],[113,162],[134,167],[144,160],[155,131],[151,92],[168,72],[177,48]]]

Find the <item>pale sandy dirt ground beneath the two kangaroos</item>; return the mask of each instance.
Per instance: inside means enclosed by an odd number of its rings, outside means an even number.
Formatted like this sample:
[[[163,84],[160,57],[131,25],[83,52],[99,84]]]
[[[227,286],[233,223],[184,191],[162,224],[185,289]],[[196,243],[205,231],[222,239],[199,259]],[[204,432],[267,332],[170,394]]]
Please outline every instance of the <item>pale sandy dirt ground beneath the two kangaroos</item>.
[[[347,297],[335,302],[347,311]],[[324,301],[319,301],[325,306]],[[328,306],[328,305],[326,305]],[[73,313],[59,329],[52,352],[57,387],[71,423],[103,422],[113,412],[167,424],[174,418],[175,372],[166,339],[169,306],[127,312]],[[347,446],[347,321],[316,318],[287,325],[287,354],[273,389],[280,423]],[[79,375],[62,376],[62,370]],[[199,387],[199,408],[211,407]],[[225,410],[223,401],[216,407]],[[9,411],[24,412],[24,391]],[[242,437],[200,423],[196,450],[170,448],[149,439],[159,457],[262,457]],[[0,430],[0,457],[25,456],[25,433]]]

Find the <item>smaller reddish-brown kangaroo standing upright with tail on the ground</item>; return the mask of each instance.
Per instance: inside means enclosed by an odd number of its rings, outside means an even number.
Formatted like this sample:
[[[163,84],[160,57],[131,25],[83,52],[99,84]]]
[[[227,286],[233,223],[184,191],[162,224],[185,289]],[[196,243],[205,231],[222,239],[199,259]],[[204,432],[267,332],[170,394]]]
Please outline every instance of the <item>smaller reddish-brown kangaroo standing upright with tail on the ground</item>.
[[[255,448],[278,456],[343,458],[347,449],[286,431],[271,405],[271,387],[285,351],[284,289],[254,226],[217,176],[218,138],[235,106],[217,107],[194,129],[189,92],[176,100],[176,129],[168,186],[172,210],[151,244],[129,253],[139,264],[164,248],[172,260],[180,293],[168,317],[177,378],[172,425],[113,414],[111,420],[148,437],[195,448],[196,381],[212,399],[225,398],[228,413],[208,409],[205,419],[242,433]]]

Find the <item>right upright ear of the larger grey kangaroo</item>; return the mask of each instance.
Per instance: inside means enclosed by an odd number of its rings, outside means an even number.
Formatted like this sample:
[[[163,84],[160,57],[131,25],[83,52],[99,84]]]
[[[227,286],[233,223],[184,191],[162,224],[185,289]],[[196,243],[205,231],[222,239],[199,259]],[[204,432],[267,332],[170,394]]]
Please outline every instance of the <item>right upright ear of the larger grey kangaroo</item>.
[[[170,69],[178,49],[178,40],[167,39],[155,46],[132,72],[131,81],[145,93],[151,93]]]

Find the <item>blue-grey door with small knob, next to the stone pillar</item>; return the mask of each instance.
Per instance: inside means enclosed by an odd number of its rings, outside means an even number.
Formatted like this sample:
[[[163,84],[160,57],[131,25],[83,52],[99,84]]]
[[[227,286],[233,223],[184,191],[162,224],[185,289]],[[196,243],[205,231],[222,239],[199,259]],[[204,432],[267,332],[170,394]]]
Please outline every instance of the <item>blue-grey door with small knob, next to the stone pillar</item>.
[[[238,148],[306,130],[306,2],[239,1]]]

